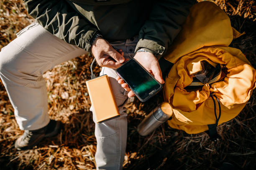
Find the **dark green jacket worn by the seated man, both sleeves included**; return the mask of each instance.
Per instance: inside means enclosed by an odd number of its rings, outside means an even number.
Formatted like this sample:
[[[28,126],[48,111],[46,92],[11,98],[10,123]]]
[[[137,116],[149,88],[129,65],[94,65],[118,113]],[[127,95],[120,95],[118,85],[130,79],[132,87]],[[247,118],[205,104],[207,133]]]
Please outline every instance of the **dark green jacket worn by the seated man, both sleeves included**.
[[[46,30],[89,51],[100,33],[109,42],[139,36],[136,46],[161,56],[195,0],[24,0]]]

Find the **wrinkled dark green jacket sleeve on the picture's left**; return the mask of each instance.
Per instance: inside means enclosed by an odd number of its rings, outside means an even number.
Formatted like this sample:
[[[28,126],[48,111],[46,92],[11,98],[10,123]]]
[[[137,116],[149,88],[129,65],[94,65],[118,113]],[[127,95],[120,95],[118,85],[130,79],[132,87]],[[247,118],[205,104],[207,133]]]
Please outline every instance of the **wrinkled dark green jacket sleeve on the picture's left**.
[[[89,51],[98,29],[65,0],[24,0],[28,13],[56,37]]]

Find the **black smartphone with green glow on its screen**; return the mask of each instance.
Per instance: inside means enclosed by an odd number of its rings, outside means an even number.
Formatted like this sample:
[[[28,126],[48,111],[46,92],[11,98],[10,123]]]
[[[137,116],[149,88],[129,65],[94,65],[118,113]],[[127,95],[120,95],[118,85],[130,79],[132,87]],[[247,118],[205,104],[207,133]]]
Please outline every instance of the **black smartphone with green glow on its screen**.
[[[135,59],[125,62],[116,69],[116,72],[142,102],[153,97],[163,87],[161,83]]]

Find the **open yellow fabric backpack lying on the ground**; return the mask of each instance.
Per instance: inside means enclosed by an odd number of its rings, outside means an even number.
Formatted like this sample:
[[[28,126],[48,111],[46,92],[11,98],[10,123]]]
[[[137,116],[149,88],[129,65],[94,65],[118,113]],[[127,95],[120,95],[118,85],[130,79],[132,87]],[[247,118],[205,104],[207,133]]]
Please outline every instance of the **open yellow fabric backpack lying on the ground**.
[[[210,11],[210,12],[209,12]],[[243,53],[230,45],[240,34],[230,19],[212,2],[200,2],[190,14],[165,59],[175,63],[166,77],[164,100],[173,108],[172,128],[195,134],[209,130],[218,139],[217,125],[243,109],[256,87],[256,70]],[[222,74],[197,90],[188,90],[203,62],[222,65]]]

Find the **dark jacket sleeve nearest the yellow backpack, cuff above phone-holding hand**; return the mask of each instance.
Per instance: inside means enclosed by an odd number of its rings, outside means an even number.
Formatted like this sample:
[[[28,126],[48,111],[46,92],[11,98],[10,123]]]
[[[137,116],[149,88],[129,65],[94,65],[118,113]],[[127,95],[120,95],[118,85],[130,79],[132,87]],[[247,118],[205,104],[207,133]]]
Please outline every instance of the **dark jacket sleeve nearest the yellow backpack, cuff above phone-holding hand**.
[[[181,30],[195,0],[158,0],[141,27],[135,51],[146,48],[158,59],[166,52]]]

